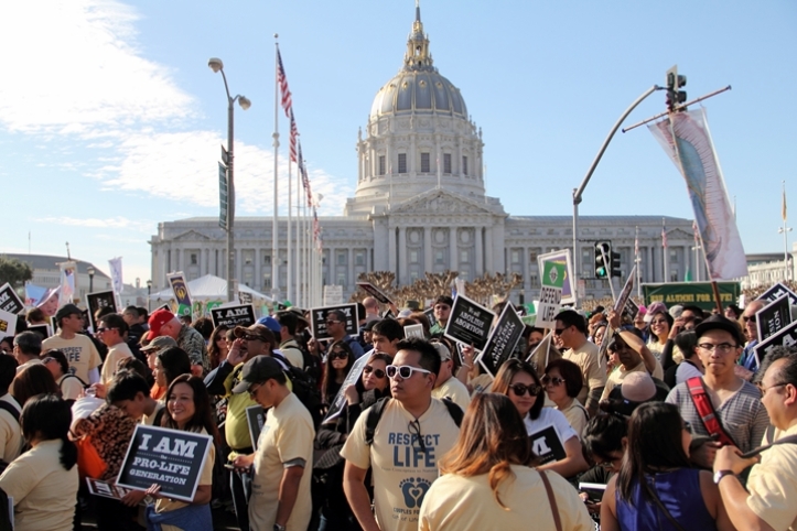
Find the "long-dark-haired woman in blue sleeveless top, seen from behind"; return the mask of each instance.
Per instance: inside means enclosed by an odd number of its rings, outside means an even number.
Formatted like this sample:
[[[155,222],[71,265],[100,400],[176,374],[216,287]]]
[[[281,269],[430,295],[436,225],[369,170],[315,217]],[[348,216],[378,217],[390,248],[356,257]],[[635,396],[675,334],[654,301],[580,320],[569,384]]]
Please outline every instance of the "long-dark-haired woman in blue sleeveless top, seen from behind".
[[[711,473],[689,463],[691,441],[691,426],[675,404],[634,410],[620,474],[603,495],[601,529],[734,529]]]

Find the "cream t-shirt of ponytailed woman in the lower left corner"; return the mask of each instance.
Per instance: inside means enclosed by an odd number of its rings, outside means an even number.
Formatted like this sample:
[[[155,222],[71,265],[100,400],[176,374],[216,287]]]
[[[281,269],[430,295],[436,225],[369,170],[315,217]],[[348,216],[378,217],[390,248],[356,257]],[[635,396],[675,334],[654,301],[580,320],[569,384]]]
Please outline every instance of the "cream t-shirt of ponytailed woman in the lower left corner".
[[[77,498],[77,465],[61,464],[61,440],[42,441],[12,462],[0,488],[14,499],[17,531],[72,531]]]

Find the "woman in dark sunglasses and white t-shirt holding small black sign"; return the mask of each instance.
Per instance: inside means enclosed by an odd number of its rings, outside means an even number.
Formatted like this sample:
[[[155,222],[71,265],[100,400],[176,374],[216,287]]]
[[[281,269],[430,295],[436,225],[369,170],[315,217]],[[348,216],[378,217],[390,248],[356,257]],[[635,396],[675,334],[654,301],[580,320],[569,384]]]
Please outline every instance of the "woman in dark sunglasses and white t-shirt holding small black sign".
[[[561,411],[543,408],[545,397],[540,379],[534,368],[517,358],[509,359],[498,369],[493,392],[506,394],[524,420],[528,436],[534,441],[541,469],[553,470],[563,477],[573,477],[589,468],[581,452],[579,434],[572,429]],[[549,430],[553,427],[553,432]],[[545,437],[545,441],[539,441]],[[556,437],[556,440],[554,440]],[[538,448],[547,448],[541,453]],[[557,455],[558,448],[561,448]]]

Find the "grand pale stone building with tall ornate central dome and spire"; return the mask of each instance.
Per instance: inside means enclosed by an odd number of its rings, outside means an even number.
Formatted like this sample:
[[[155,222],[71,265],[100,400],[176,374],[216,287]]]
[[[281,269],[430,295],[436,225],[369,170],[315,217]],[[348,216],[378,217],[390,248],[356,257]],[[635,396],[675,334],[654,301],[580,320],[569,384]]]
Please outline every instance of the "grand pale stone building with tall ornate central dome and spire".
[[[398,74],[374,97],[365,129],[357,133],[357,187],[343,216],[322,217],[324,284],[356,289],[359,273],[392,271],[405,285],[426,272],[457,271],[472,280],[484,273],[518,273],[526,299],[539,293],[537,257],[572,249],[572,217],[513,216],[484,185],[482,131],[467,113],[461,90],[440,74],[416,6],[412,31]],[[287,219],[279,220],[279,285],[272,286],[271,217],[238,217],[235,225],[236,274],[240,283],[290,299],[302,286],[287,285]],[[668,248],[661,250],[663,220]],[[682,280],[694,269],[691,220],[661,216],[581,216],[582,270],[586,296],[610,294],[594,279],[593,245],[611,240],[626,275],[634,266],[638,230],[643,282]],[[226,277],[226,236],[216,217],[159,224],[153,236],[153,289],[169,286],[166,273],[189,280],[212,273]],[[295,250],[295,231],[292,236]],[[700,277],[706,278],[704,266]],[[276,288],[276,290],[274,290]],[[297,291],[298,290],[298,291]],[[297,301],[294,301],[297,302]],[[301,302],[301,299],[299,300]]]

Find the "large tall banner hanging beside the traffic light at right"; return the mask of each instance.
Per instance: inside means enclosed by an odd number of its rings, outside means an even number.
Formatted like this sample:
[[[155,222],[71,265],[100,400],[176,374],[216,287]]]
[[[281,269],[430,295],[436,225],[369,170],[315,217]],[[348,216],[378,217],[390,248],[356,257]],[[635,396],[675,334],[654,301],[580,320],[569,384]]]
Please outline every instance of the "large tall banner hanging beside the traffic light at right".
[[[746,277],[747,259],[728,199],[706,109],[670,113],[648,129],[686,180],[710,279]]]

